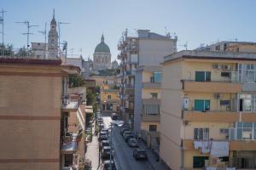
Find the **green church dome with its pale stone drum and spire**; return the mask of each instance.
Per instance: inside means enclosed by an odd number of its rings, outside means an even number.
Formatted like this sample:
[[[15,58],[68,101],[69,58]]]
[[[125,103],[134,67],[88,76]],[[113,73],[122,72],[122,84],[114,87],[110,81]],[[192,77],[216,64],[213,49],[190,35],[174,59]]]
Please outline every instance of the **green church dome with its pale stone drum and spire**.
[[[104,42],[104,36],[102,35],[102,41],[96,46],[93,54],[93,70],[111,69],[111,66],[110,49]]]

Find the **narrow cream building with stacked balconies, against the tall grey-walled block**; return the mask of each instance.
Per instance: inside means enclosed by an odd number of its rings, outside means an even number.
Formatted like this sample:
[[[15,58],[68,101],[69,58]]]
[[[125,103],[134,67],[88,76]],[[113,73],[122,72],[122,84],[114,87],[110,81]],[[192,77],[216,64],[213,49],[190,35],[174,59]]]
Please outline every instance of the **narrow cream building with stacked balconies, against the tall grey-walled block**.
[[[159,148],[161,66],[139,66],[135,76],[134,130],[150,148]]]

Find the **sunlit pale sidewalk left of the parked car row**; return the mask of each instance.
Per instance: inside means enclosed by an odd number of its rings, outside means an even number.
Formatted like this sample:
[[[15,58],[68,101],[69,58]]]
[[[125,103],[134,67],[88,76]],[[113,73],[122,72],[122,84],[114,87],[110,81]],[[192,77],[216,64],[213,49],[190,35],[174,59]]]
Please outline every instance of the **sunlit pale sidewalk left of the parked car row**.
[[[95,133],[95,123],[93,123],[92,133]],[[99,142],[97,135],[92,136],[92,141],[87,144],[87,151],[85,153],[85,159],[91,161],[92,170],[97,170],[99,165]]]

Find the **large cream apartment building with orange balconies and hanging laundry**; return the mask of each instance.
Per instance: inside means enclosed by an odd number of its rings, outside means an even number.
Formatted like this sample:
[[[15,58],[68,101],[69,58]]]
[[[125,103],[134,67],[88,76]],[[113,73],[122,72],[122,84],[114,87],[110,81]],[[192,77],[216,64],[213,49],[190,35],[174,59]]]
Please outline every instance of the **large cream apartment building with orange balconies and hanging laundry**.
[[[172,169],[256,165],[256,54],[181,51],[165,57],[160,157]]]

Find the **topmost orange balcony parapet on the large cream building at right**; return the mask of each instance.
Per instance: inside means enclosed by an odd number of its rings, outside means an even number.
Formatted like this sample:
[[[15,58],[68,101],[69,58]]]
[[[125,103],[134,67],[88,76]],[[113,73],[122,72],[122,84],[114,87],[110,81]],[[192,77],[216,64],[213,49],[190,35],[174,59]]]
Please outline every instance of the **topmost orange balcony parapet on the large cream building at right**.
[[[241,84],[238,82],[195,82],[183,80],[185,92],[197,93],[239,93]]]

